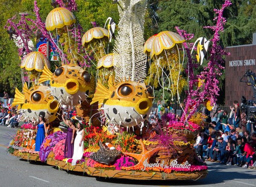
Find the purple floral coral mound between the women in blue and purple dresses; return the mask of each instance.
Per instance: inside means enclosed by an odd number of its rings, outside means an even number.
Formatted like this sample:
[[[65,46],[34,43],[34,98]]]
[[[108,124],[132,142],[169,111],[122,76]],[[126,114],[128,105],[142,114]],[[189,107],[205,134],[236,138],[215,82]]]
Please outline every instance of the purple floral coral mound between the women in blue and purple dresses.
[[[66,136],[67,134],[62,131],[57,131],[53,134],[48,135],[40,146],[40,160],[42,162],[46,161],[49,153],[53,150],[56,143],[58,143],[60,140],[65,139]]]

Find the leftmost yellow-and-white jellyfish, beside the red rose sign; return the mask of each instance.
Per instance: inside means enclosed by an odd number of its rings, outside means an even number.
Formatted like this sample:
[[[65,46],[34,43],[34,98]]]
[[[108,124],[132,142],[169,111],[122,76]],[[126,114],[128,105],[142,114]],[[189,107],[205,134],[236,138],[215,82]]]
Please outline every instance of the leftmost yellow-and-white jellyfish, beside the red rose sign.
[[[44,56],[44,54],[37,51],[27,54],[21,61],[21,68],[25,68],[27,71],[29,71],[29,78],[35,79],[35,84],[37,84],[37,81],[40,76],[39,72],[43,71],[44,66],[50,68],[50,63]]]

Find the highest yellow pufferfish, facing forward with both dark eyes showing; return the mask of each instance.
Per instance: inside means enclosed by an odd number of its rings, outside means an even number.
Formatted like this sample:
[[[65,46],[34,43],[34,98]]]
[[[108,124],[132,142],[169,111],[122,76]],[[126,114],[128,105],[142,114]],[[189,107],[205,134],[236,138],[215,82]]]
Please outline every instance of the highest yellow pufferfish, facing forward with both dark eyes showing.
[[[46,66],[39,83],[50,80],[50,92],[62,105],[81,104],[94,88],[94,79],[82,67],[75,64],[63,65],[52,73]]]

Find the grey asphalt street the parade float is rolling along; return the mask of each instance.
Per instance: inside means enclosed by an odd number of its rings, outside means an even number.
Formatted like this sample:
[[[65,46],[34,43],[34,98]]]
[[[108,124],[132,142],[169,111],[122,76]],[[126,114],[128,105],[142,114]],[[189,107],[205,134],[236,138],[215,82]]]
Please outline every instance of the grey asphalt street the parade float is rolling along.
[[[256,187],[256,170],[211,162],[206,162],[209,167],[207,177],[197,181],[136,181],[67,172],[7,153],[8,137],[16,131],[0,126],[0,187]]]

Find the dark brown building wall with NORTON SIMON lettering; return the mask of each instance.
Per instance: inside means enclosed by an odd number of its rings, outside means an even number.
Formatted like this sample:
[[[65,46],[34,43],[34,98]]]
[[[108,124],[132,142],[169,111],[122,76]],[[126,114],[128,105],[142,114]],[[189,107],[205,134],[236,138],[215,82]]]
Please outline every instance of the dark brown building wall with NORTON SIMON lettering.
[[[233,101],[241,103],[241,97],[245,96],[247,100],[253,98],[253,87],[245,82],[240,82],[247,70],[256,73],[256,42],[253,35],[253,44],[227,47],[226,51],[230,56],[226,56],[226,79],[225,79],[225,105],[233,106]],[[246,80],[244,77],[242,80]]]

